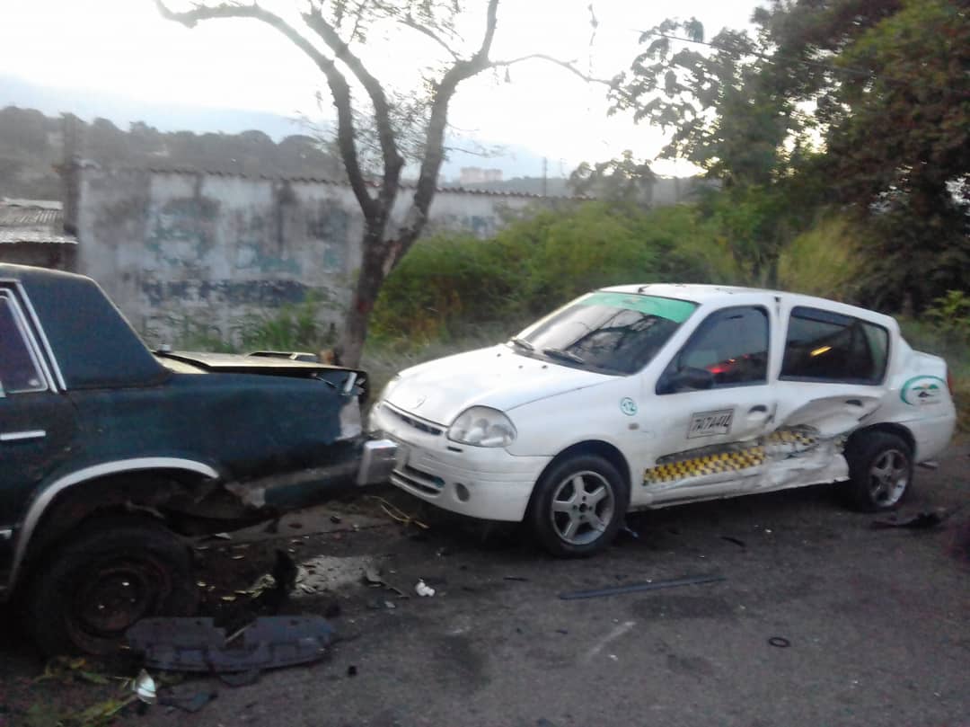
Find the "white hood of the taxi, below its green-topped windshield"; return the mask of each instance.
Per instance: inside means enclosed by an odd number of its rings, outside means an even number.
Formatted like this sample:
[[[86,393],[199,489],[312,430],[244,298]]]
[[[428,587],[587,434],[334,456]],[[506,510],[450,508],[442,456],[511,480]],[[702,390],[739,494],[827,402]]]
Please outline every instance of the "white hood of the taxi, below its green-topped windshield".
[[[386,401],[422,419],[448,426],[472,406],[508,412],[566,391],[615,377],[519,355],[500,345],[459,353],[406,369]]]

